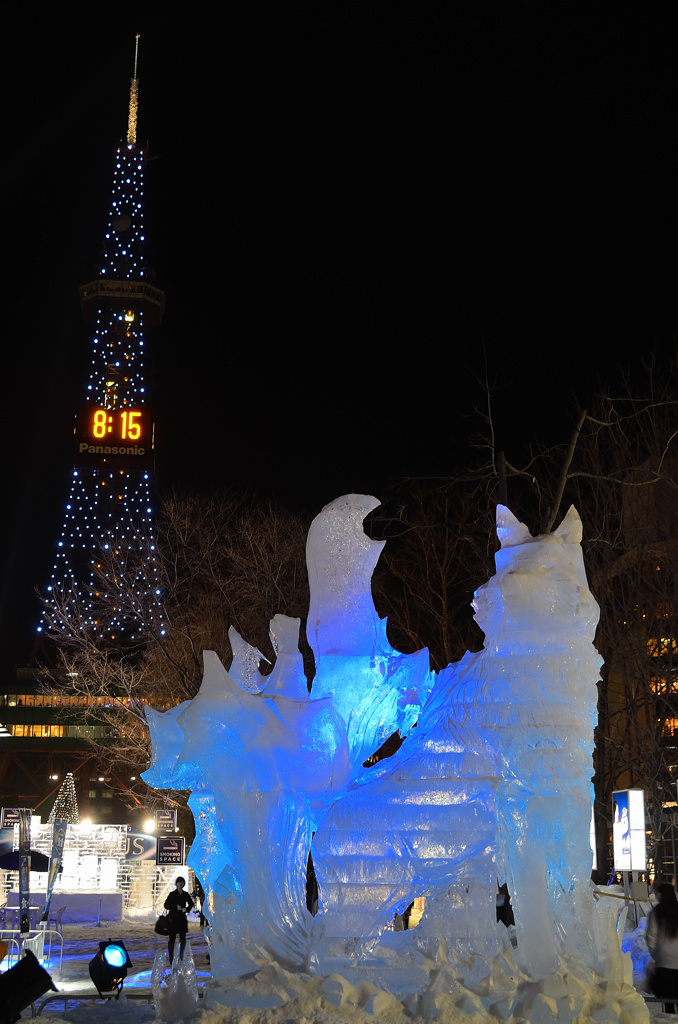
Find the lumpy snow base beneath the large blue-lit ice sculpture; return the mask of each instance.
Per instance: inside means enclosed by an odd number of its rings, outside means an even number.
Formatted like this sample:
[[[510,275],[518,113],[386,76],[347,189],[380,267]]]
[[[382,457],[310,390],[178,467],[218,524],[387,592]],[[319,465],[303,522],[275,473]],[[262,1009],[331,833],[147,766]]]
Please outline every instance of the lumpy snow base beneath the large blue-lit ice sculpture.
[[[336,1024],[649,1022],[645,1002],[632,985],[605,979],[574,957],[563,957],[560,971],[539,981],[522,974],[510,952],[464,964],[453,957],[450,964],[337,966],[336,972],[316,976],[268,964],[247,978],[208,983],[204,1007],[227,1008],[223,1020],[228,1024],[251,1021],[253,1010],[262,1012],[266,1024],[320,1017]]]

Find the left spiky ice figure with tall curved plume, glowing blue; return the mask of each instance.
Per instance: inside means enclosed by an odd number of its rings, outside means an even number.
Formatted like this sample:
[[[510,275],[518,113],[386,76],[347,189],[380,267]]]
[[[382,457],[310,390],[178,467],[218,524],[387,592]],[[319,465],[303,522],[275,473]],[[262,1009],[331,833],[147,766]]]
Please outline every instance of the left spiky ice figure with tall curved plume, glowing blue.
[[[310,965],[317,931],[306,908],[312,836],[328,807],[366,774],[363,762],[414,725],[432,685],[426,651],[394,650],[372,603],[383,545],[366,537],[363,520],[378,504],[349,495],[311,526],[311,693],[299,621],[277,615],[269,676],[253,682],[240,640],[242,685],[205,651],[195,699],[149,715],[154,760],[145,780],[192,791],[197,842],[189,863],[207,895],[215,976],[250,971],[258,950],[286,967]]]

